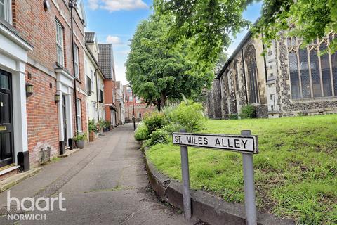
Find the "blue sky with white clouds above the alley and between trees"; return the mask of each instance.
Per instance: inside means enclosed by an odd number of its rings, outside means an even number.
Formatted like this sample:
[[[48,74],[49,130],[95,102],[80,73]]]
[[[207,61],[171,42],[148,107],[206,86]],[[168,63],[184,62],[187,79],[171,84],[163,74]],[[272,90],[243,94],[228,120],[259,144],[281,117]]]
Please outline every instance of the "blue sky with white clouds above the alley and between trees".
[[[99,43],[111,43],[114,49],[116,79],[128,84],[125,66],[129,44],[141,20],[152,13],[152,0],[84,0],[86,8],[86,32],[95,32]],[[244,18],[254,22],[260,15],[262,3],[254,3],[244,12]],[[234,51],[247,30],[233,37],[227,49],[228,56]]]

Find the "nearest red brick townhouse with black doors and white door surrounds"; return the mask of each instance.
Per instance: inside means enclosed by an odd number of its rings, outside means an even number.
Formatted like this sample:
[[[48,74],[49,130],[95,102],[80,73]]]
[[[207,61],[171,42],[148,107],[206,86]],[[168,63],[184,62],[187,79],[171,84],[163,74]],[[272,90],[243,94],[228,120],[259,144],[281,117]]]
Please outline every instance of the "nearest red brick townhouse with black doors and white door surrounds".
[[[87,130],[84,5],[2,2],[0,167],[37,165],[41,151],[63,153],[77,132]]]

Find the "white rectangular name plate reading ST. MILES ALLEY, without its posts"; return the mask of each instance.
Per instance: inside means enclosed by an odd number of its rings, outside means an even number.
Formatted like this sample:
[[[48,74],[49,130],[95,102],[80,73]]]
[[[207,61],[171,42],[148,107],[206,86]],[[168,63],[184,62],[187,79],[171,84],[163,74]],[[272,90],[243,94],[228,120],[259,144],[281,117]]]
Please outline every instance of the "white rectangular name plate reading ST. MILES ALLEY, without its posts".
[[[257,136],[227,134],[173,133],[173,144],[200,148],[232,150],[240,153],[258,153]]]

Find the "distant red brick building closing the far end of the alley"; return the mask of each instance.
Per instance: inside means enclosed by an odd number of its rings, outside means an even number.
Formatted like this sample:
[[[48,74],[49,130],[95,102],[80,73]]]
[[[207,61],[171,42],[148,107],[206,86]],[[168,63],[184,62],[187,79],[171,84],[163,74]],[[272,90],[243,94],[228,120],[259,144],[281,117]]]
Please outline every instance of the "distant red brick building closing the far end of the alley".
[[[133,107],[135,110],[135,119],[140,121],[147,113],[157,111],[157,107],[154,105],[147,106],[147,103],[143,101],[143,98],[138,96],[132,96],[132,89],[127,85],[124,85],[124,98],[125,98],[125,121],[133,121]]]

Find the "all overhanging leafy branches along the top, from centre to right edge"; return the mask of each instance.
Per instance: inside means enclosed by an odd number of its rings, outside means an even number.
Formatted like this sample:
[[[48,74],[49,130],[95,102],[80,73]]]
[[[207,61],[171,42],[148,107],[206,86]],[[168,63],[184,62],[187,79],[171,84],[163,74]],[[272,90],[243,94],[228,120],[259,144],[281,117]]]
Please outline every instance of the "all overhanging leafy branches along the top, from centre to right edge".
[[[257,0],[261,1],[261,0]],[[244,27],[251,27],[242,18],[246,6],[253,0],[154,0],[154,11],[174,15],[171,37],[196,39],[199,51],[194,56],[200,60],[215,62],[223,48],[230,44],[230,35]],[[289,29],[291,25],[291,30]],[[337,32],[336,0],[264,0],[261,18],[253,28],[263,34],[265,44],[277,39],[279,32],[303,38],[311,43],[316,37]],[[329,45],[337,50],[337,39]]]

